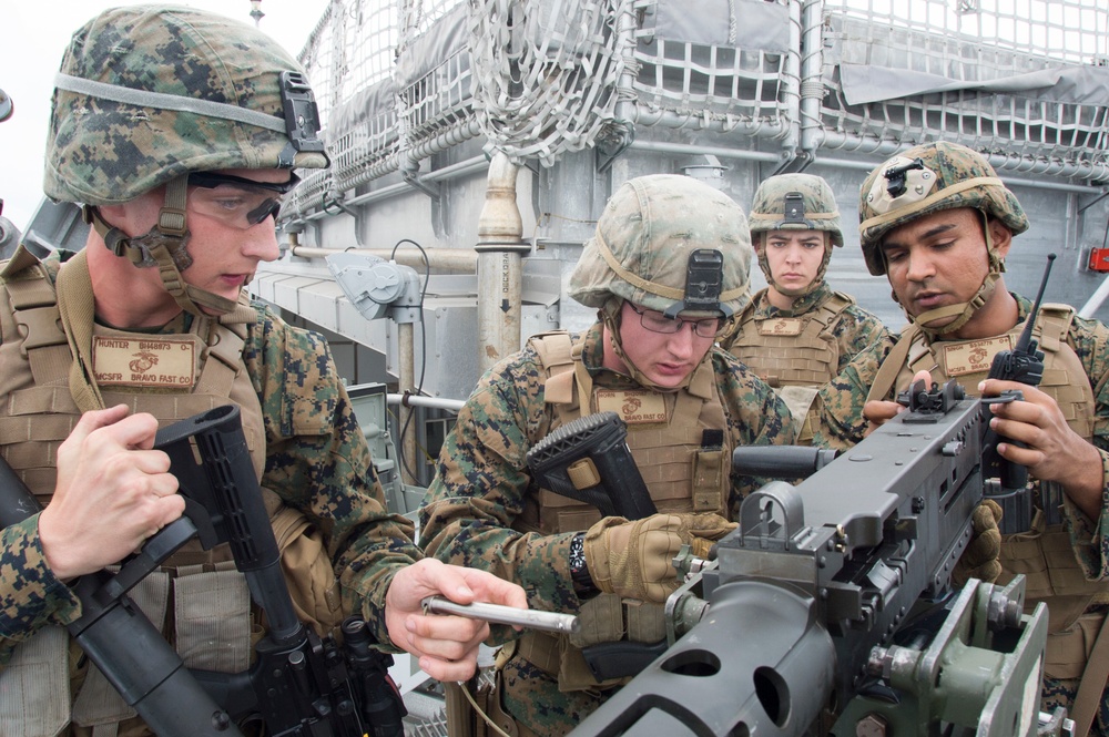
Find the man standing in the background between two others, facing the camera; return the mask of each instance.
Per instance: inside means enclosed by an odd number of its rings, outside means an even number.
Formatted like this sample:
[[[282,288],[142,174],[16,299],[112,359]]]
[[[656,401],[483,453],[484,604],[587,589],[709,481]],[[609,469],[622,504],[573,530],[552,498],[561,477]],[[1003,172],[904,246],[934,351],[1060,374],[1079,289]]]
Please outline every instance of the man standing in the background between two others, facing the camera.
[[[805,419],[817,390],[887,331],[824,279],[833,248],[843,247],[827,182],[813,174],[767,178],[755,192],[749,222],[767,286],[721,345],[774,387],[793,411],[797,442],[807,443],[812,428]]]

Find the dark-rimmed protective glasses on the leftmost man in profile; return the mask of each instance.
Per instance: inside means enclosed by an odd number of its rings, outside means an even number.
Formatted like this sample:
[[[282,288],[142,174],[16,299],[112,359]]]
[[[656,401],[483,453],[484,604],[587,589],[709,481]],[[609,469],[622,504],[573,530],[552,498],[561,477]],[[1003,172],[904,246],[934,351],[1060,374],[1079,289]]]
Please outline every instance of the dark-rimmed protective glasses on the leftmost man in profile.
[[[192,193],[190,203],[205,217],[245,231],[264,223],[271,215],[277,217],[285,195],[297,182],[299,178],[295,174],[288,182],[255,182],[231,174],[194,172],[189,175],[189,184],[197,190]]]

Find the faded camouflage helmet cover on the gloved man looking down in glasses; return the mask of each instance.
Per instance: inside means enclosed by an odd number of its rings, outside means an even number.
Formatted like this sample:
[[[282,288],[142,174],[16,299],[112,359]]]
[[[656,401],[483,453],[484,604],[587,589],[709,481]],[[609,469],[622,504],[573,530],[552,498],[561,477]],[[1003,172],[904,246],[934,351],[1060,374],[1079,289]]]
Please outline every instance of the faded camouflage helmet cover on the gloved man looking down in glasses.
[[[731,197],[680,174],[624,182],[609,198],[570,276],[569,294],[587,307],[612,297],[661,313],[685,299],[690,254],[723,256],[720,311],[737,314],[751,300],[751,236]]]

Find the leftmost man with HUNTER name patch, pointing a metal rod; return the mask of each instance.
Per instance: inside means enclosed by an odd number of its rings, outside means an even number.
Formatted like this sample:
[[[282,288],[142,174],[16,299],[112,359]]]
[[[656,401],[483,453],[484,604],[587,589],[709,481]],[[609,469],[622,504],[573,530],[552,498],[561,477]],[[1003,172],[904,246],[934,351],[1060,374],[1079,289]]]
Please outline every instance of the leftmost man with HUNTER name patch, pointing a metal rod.
[[[292,170],[327,165],[317,129],[296,62],[222,16],[115,9],[73,35],[45,192],[94,227],[64,262],[21,247],[0,267],[0,453],[47,504],[0,533],[0,734],[150,734],[69,642],[82,614],[69,584],[181,515],[154,431],[222,405],[241,410],[305,622],[360,613],[383,646],[465,678],[488,627],[424,616],[420,597],[525,604],[491,575],[420,560],[323,338],[243,291],[277,256]],[[225,545],[186,543],[132,597],[190,667],[250,664],[261,622]]]

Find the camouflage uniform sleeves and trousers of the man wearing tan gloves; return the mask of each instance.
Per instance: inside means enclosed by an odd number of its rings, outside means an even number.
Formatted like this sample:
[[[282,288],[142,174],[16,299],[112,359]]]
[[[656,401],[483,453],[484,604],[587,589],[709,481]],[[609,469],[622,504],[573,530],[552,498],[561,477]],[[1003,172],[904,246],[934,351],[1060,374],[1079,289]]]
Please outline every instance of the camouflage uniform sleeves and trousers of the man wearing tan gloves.
[[[600,324],[583,337],[582,360],[594,386],[614,389],[639,385],[601,368]],[[793,442],[787,410],[773,391],[726,352],[713,348],[715,382],[724,403],[734,447]],[[568,566],[573,533],[523,534],[512,523],[535,494],[527,453],[551,428],[543,401],[546,370],[530,348],[510,356],[484,376],[458,416],[439,454],[439,468],[420,509],[420,542],[429,555],[448,563],[490,571],[520,584],[528,605],[574,613],[581,605]],[[733,479],[730,508],[756,488]],[[558,683],[522,658],[505,668],[509,687],[518,679],[529,698],[506,699],[507,709],[540,734],[572,729],[613,692],[560,693]]]

